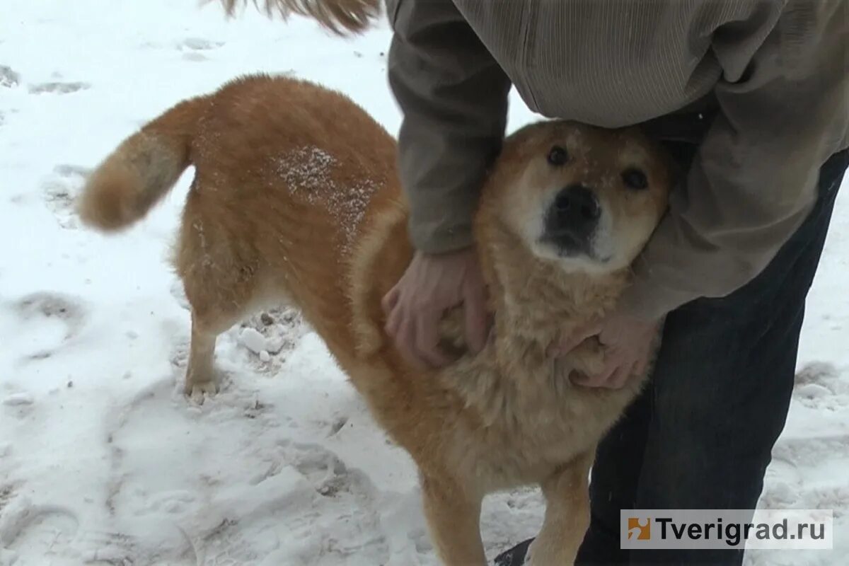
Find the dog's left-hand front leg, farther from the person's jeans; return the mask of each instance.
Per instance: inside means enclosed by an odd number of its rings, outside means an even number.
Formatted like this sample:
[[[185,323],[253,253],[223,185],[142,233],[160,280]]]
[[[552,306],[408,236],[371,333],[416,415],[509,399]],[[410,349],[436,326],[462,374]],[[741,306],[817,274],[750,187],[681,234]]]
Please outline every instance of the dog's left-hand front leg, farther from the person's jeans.
[[[424,515],[445,566],[485,566],[481,541],[482,496],[451,478],[422,475]]]

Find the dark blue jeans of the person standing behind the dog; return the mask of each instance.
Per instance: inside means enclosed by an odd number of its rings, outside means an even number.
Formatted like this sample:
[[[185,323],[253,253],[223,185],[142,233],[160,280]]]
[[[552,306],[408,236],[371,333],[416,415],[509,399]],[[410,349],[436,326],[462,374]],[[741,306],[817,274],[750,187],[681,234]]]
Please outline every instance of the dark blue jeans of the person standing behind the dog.
[[[599,445],[576,564],[742,562],[734,549],[621,550],[620,509],[756,507],[790,406],[805,298],[847,165],[843,151],[823,166],[817,205],[760,275],[666,317],[649,386]],[[497,563],[520,564],[525,551],[523,543]]]

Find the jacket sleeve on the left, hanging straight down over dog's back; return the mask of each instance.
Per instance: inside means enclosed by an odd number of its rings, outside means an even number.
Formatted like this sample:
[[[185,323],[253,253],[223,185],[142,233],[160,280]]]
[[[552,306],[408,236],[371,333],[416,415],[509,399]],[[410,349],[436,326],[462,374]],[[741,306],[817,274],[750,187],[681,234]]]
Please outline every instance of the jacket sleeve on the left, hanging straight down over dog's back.
[[[486,168],[503,141],[510,82],[452,0],[388,0],[387,12],[410,237],[426,253],[464,248]]]

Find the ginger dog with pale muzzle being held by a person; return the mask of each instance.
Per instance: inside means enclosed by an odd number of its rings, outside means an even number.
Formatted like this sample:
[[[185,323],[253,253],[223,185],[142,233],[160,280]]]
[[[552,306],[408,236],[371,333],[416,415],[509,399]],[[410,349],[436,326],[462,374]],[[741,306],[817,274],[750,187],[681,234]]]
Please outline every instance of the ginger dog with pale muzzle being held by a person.
[[[296,305],[413,456],[444,563],[485,564],[482,498],[527,484],[548,502],[532,563],[571,563],[595,445],[643,377],[583,388],[569,376],[599,366],[598,342],[558,361],[546,350],[626,287],[666,207],[664,154],[637,131],[559,121],[508,137],[475,216],[493,338],[470,355],[447,313],[443,339],[458,360],[438,371],[410,365],[383,330],[380,300],[413,249],[395,142],[363,109],[309,82],[240,78],[121,143],[88,178],[80,215],[128,227],[189,165],[175,255],[192,311],[186,393],[216,391],[219,333],[263,303]]]

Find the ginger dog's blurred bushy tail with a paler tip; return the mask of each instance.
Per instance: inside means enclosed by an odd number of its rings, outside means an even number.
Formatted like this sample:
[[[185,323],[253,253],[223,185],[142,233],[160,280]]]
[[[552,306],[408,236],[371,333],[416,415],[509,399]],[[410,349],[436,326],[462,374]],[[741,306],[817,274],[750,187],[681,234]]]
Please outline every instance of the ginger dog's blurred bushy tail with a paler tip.
[[[192,98],[127,137],[88,177],[77,203],[87,225],[112,232],[138,221],[190,165],[206,98]]]

